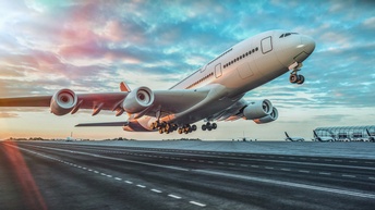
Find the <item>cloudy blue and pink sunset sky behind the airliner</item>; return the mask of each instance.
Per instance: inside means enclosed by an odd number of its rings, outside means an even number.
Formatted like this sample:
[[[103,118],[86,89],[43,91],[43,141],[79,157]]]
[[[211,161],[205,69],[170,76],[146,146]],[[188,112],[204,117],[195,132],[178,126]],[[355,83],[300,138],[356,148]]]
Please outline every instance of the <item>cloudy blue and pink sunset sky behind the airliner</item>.
[[[101,111],[56,116],[49,108],[0,108],[0,139],[8,137],[105,139],[279,140],[283,132],[311,139],[319,126],[375,124],[375,3],[350,0],[0,1],[0,97],[168,89],[237,42],[269,29],[316,41],[304,61],[301,86],[285,74],[245,99],[269,99],[273,123],[220,122],[190,135],[129,133],[121,127],[74,127],[125,121]],[[202,122],[197,123],[201,126]]]

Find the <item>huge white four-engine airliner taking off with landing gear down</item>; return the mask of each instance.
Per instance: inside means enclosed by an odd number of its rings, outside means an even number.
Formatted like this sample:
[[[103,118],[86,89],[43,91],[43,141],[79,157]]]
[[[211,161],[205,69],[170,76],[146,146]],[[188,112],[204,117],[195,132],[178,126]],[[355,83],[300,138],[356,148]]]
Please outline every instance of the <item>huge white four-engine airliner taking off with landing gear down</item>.
[[[56,115],[74,114],[80,109],[124,112],[121,122],[83,123],[75,126],[122,126],[129,132],[189,134],[204,121],[202,131],[217,128],[216,122],[252,120],[257,124],[278,119],[278,110],[268,99],[246,101],[244,95],[290,72],[289,81],[301,85],[302,62],[315,49],[315,41],[289,30],[268,30],[252,36],[196,70],[167,90],[146,86],[131,89],[120,83],[120,91],[75,94],[63,88],[52,96],[1,98],[0,107],[49,107]]]

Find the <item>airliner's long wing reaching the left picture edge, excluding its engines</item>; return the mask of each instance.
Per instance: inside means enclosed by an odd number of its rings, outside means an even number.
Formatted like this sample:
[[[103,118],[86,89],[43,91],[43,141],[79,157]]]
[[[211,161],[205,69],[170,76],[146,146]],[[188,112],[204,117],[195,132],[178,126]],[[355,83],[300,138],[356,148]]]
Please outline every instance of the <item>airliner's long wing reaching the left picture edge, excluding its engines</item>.
[[[180,90],[155,90],[154,102],[142,115],[156,116],[179,113],[198,103],[206,98],[208,91],[180,89]],[[120,92],[98,92],[98,94],[76,94],[77,104],[72,113],[80,109],[93,109],[93,115],[100,110],[114,111],[121,107],[126,99],[128,91]],[[0,98],[0,107],[50,107],[55,96],[31,96],[17,98]],[[97,110],[99,109],[99,110]]]

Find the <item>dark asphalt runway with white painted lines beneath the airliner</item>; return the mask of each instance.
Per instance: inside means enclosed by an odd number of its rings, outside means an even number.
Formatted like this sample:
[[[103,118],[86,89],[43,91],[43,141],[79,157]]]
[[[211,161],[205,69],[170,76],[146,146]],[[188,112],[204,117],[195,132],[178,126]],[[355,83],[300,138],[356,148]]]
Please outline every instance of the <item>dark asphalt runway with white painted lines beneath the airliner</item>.
[[[4,209],[374,209],[375,159],[2,141],[0,184]]]

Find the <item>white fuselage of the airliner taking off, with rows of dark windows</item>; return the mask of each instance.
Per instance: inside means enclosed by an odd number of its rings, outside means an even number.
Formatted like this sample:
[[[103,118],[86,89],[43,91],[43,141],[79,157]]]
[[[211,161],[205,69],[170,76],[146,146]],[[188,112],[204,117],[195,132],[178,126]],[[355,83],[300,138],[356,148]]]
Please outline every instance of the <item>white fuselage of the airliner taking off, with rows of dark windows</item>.
[[[286,34],[289,35],[283,36]],[[302,63],[314,48],[315,42],[310,37],[286,30],[269,30],[247,38],[171,87],[209,94],[193,108],[160,120],[189,124],[209,119],[235,103],[245,103],[241,99],[244,94],[287,73],[293,63]],[[131,120],[123,128],[153,131],[149,125],[155,121],[155,118],[143,116]]]

